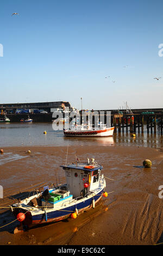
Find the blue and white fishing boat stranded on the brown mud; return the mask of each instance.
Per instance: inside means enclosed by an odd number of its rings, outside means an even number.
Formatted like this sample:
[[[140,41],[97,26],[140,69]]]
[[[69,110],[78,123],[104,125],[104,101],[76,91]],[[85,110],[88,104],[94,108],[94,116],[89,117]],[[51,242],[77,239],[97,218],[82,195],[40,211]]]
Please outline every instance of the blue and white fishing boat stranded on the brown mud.
[[[11,210],[22,223],[22,227],[30,228],[38,224],[58,222],[66,218],[76,218],[86,209],[95,208],[104,192],[106,182],[101,175],[103,167],[95,159],[87,162],[66,164],[66,184],[43,187],[33,196],[11,205]]]

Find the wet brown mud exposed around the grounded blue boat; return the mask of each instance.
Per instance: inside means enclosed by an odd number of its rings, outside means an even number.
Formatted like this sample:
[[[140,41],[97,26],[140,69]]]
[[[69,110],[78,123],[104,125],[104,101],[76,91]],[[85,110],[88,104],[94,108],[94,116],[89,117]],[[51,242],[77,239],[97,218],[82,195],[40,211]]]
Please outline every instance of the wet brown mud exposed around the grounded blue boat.
[[[5,147],[0,155],[0,206],[11,205],[39,186],[65,182],[67,147]],[[31,153],[27,154],[27,150]],[[162,241],[162,206],[159,186],[163,185],[163,150],[143,147],[68,148],[67,162],[95,158],[102,164],[108,198],[76,220],[68,219],[13,234],[18,222],[8,209],[0,209],[0,245],[153,245]],[[151,168],[143,168],[145,159]]]

